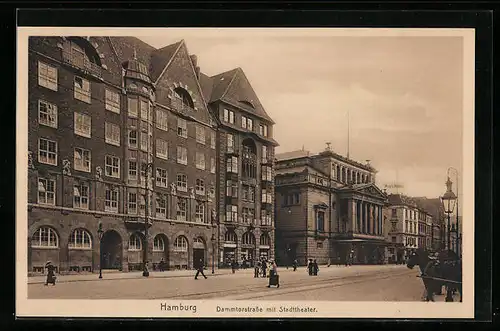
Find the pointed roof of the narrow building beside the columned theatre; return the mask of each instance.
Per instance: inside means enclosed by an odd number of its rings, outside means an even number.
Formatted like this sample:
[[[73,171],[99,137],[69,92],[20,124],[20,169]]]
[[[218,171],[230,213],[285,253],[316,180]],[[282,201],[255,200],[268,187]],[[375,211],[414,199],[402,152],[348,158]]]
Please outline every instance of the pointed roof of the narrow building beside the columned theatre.
[[[220,91],[217,92],[220,93]],[[212,99],[216,97],[217,95],[213,95]],[[274,121],[264,110],[257,94],[241,68],[234,69],[234,75],[229,82],[229,86],[227,86],[226,91],[218,99],[236,104],[245,109],[246,112],[274,124]]]

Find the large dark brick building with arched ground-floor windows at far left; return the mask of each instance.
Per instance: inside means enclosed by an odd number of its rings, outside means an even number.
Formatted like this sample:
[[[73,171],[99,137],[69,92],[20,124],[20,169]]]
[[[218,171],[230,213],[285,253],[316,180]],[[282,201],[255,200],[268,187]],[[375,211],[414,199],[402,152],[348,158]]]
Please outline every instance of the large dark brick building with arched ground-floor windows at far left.
[[[223,136],[184,41],[32,37],[29,72],[29,272],[216,260]]]

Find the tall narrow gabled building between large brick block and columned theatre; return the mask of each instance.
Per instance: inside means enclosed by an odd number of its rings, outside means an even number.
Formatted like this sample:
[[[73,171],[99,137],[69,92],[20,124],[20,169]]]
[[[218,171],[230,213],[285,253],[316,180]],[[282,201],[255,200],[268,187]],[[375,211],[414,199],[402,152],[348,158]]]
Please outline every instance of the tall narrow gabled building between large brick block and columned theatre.
[[[241,68],[201,75],[217,136],[218,265],[274,258],[273,120]]]

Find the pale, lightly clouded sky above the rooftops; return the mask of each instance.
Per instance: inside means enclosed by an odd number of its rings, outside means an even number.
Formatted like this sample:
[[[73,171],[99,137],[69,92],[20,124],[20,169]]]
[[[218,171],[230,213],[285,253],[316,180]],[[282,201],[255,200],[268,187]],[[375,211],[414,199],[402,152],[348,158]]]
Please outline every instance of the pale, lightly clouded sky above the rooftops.
[[[331,142],[346,155],[349,132],[350,158],[371,160],[380,188],[397,181],[400,193],[432,198],[449,167],[461,180],[462,38],[234,32],[139,38],[157,48],[184,39],[209,76],[241,67],[276,122],[276,153]]]

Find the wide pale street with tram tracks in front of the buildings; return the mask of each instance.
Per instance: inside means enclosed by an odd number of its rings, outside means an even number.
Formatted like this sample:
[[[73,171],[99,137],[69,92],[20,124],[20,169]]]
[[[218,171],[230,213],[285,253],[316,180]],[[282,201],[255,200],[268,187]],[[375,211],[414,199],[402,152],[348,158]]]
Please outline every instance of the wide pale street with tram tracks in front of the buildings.
[[[208,279],[198,280],[194,273],[152,273],[149,278],[140,273],[105,274],[102,280],[98,275],[61,276],[56,286],[33,279],[28,298],[419,301],[423,292],[418,271],[400,265],[324,266],[316,277],[308,276],[304,267],[296,272],[282,267],[279,288],[267,288],[268,279],[254,278],[251,269],[235,274],[220,270],[215,275],[208,271]],[[436,296],[436,301],[444,301],[444,296]]]

